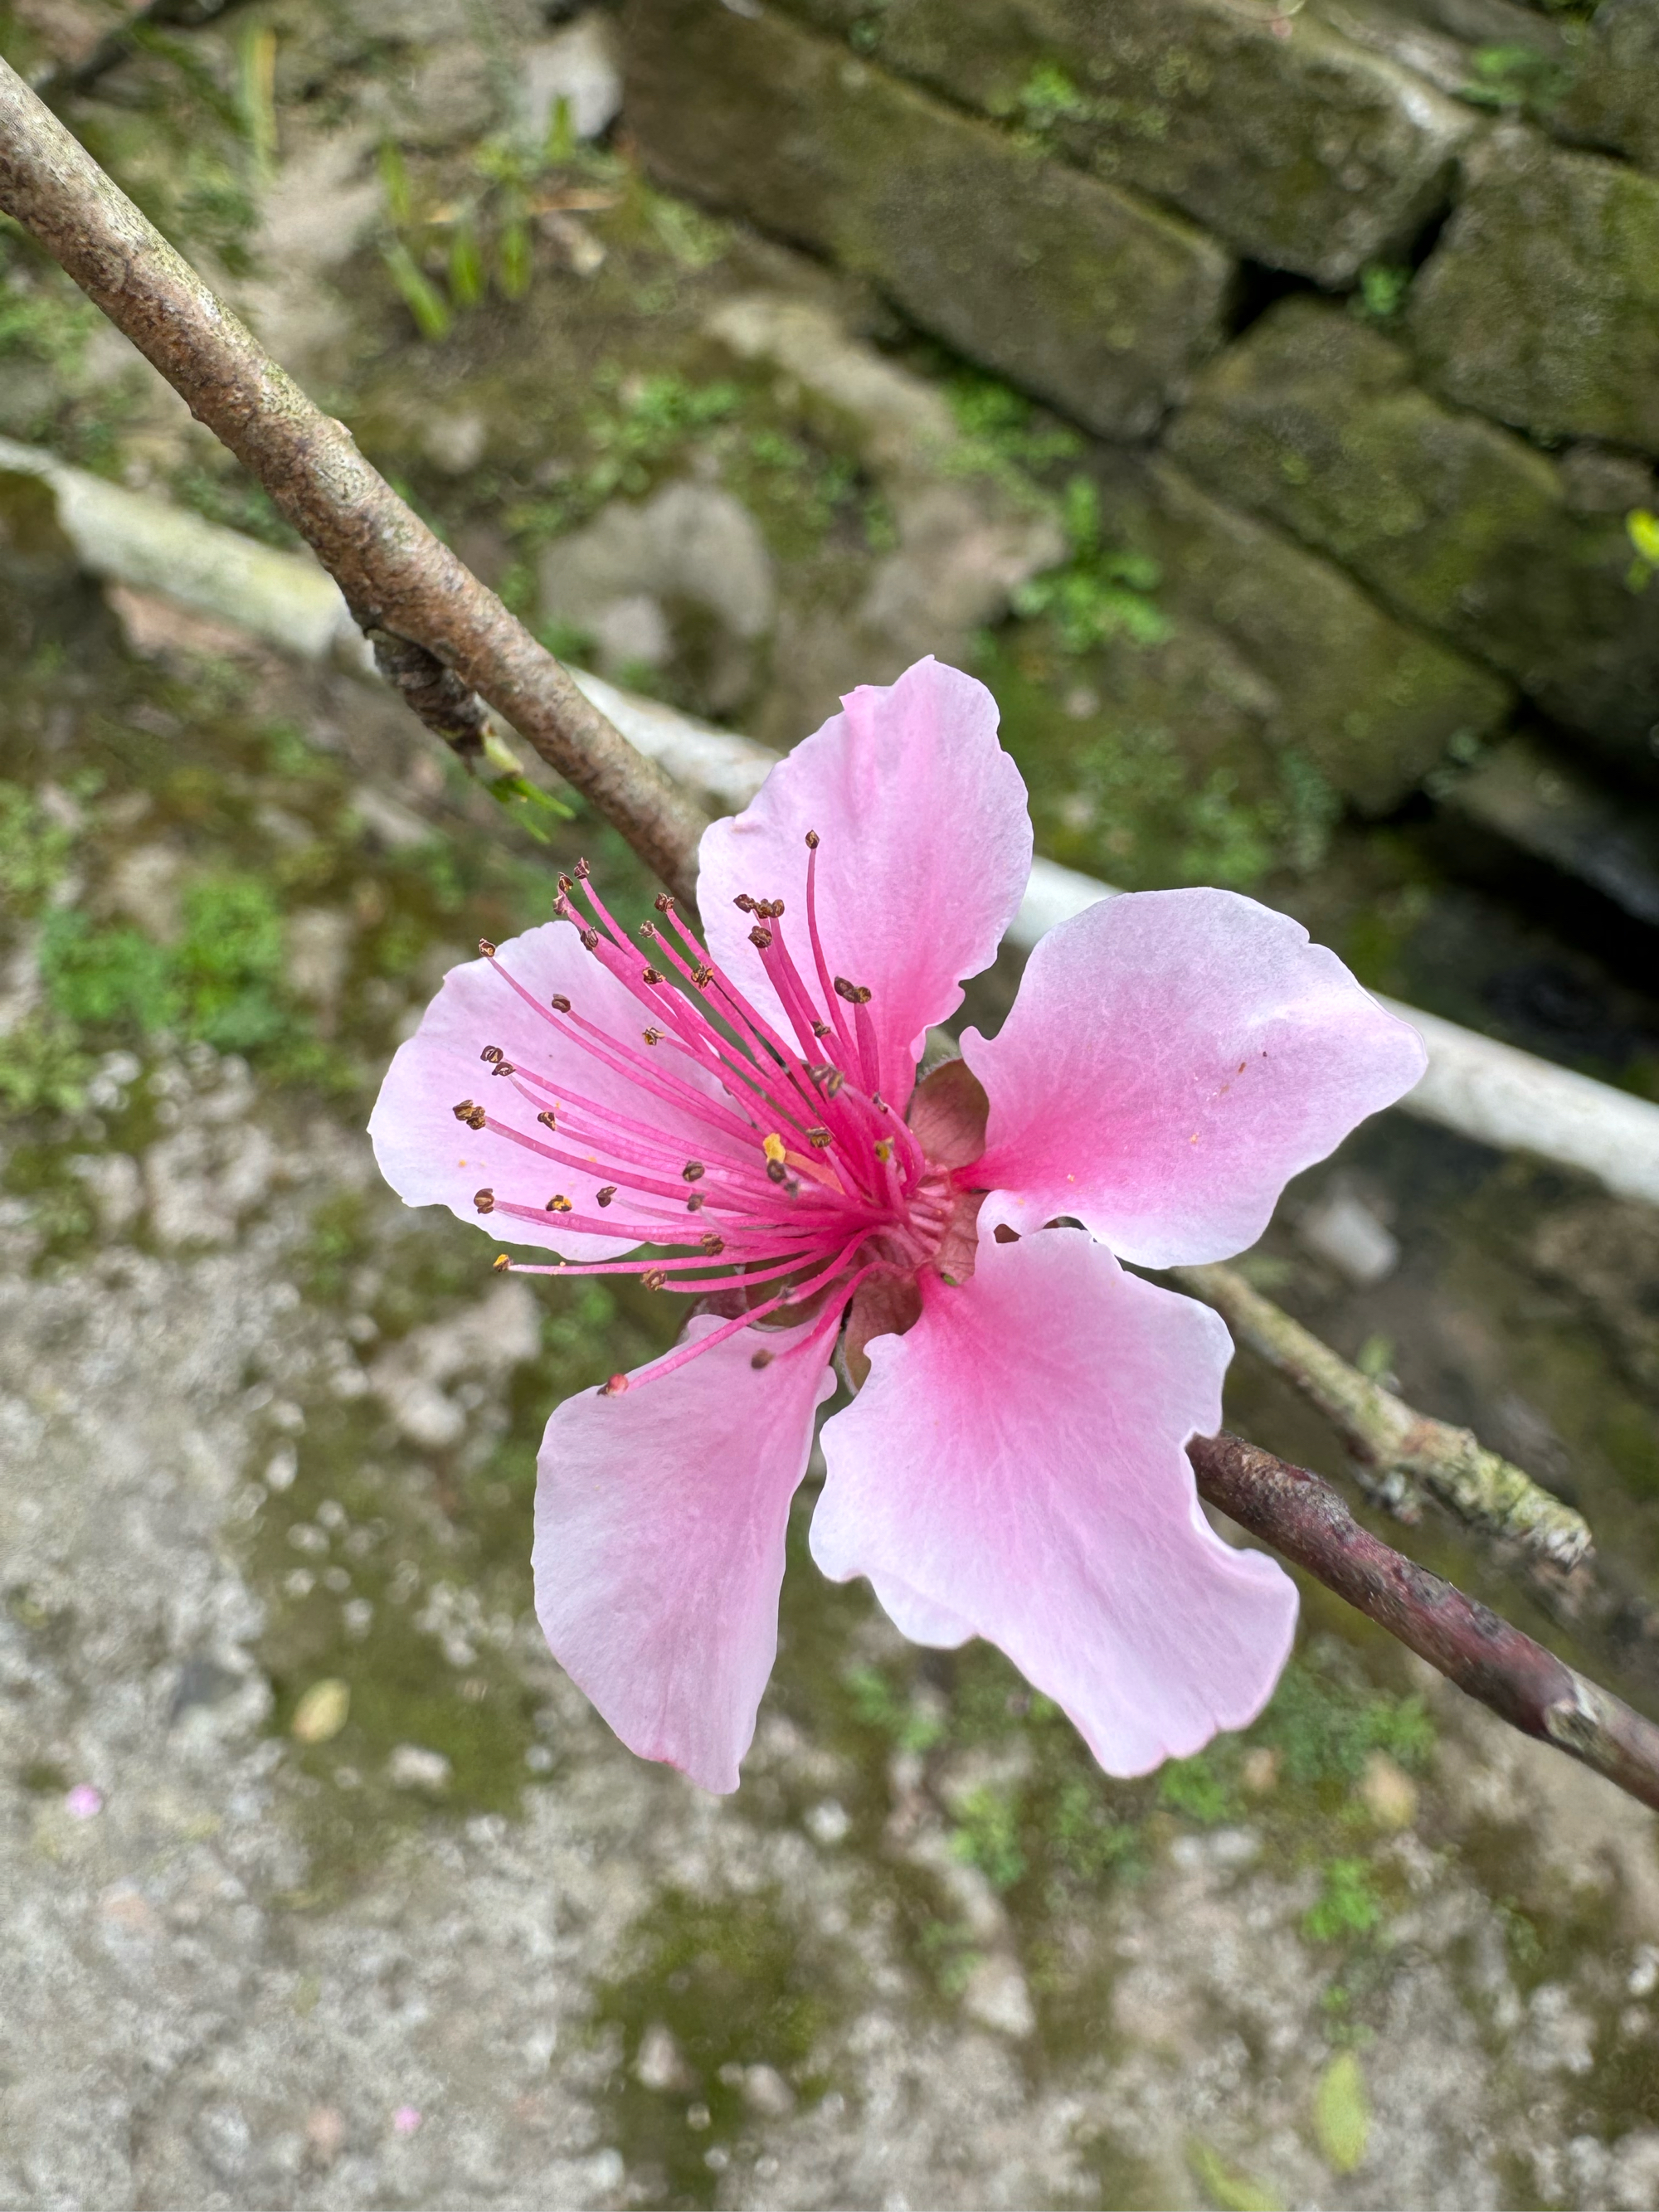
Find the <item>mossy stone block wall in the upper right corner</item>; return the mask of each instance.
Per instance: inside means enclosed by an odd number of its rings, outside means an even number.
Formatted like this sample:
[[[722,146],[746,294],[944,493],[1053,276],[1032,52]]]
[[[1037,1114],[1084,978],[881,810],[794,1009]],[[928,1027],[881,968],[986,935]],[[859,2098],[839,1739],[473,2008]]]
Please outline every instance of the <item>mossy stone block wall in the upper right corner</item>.
[[[675,188],[1097,440],[1367,812],[1546,719],[1659,783],[1659,7],[633,0]]]

